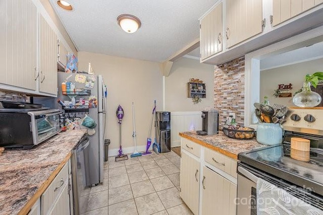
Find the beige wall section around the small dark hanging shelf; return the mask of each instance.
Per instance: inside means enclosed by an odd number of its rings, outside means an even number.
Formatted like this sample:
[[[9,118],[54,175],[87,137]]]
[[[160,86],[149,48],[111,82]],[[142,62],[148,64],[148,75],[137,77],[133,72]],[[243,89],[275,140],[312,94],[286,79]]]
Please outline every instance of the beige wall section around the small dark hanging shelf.
[[[198,78],[205,83],[206,98],[202,98],[198,104],[193,104],[192,98],[187,97],[187,82],[191,78]],[[202,111],[206,107],[213,107],[214,66],[201,64],[198,60],[180,58],[174,62],[165,82],[167,111]]]

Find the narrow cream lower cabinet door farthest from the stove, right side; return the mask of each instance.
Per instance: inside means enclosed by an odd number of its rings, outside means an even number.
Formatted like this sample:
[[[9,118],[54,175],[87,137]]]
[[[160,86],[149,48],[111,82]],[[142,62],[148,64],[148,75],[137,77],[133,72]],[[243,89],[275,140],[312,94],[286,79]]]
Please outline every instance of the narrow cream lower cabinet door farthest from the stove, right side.
[[[191,211],[198,214],[200,163],[186,150],[182,150],[180,178],[180,196]]]

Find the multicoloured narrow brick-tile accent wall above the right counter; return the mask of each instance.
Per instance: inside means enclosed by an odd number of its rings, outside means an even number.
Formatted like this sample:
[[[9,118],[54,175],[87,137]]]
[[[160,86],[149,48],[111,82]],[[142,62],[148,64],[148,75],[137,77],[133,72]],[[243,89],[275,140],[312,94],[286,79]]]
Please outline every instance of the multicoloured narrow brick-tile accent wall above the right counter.
[[[236,114],[236,122],[244,121],[244,56],[214,67],[214,108],[219,113],[220,128],[229,112]]]

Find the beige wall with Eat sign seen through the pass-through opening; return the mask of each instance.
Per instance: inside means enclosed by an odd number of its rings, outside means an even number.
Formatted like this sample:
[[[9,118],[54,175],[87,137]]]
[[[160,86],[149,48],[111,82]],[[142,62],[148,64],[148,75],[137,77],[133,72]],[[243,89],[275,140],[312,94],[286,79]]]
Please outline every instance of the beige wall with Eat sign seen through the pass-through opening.
[[[308,61],[299,64],[279,67],[260,72],[260,102],[267,96],[271,104],[285,104],[295,106],[293,97],[275,97],[274,90],[278,89],[279,84],[293,84],[292,96],[303,86],[306,74],[322,71],[323,59]]]

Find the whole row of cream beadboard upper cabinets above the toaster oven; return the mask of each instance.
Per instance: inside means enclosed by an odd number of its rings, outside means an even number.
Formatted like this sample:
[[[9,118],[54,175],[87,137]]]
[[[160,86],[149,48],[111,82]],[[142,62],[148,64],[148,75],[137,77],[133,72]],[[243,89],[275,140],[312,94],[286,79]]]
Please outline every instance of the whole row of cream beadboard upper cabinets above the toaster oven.
[[[0,29],[0,90],[56,96],[58,38],[63,36],[41,2],[1,0]],[[62,45],[61,56],[68,50]],[[60,60],[65,66],[66,58]]]

